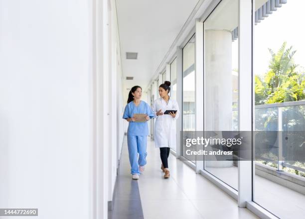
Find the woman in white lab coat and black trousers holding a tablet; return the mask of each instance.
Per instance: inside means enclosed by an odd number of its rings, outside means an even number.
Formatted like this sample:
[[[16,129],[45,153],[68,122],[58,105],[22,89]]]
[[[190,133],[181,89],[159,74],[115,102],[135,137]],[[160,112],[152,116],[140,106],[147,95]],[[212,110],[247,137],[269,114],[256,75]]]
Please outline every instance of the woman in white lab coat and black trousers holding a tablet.
[[[170,82],[165,81],[159,86],[160,98],[155,100],[152,105],[152,111],[156,118],[154,123],[154,145],[160,148],[161,169],[164,172],[164,178],[168,178],[169,169],[167,158],[170,147],[176,146],[176,119],[179,116],[178,104],[170,99]],[[175,113],[164,114],[166,110],[177,110]]]

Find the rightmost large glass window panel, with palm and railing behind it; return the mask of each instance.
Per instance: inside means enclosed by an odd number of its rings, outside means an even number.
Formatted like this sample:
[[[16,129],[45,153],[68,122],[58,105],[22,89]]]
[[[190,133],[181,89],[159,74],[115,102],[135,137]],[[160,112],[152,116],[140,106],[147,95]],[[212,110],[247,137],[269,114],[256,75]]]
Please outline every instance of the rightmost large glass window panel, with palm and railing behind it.
[[[305,136],[300,132],[305,131],[305,43],[300,28],[305,1],[277,2],[256,0],[254,5],[255,129],[278,134],[268,153],[260,153],[255,141],[253,200],[279,218],[304,218],[305,187],[296,188],[305,180]],[[286,136],[285,131],[293,134]]]

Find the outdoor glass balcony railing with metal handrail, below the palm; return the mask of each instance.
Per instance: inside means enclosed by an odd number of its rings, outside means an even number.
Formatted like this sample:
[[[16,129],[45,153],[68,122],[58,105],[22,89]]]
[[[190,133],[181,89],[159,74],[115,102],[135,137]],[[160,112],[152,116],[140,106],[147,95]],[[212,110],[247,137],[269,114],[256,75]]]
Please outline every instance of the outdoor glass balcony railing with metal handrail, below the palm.
[[[270,145],[255,138],[257,162],[305,177],[305,101],[255,106],[255,130]]]

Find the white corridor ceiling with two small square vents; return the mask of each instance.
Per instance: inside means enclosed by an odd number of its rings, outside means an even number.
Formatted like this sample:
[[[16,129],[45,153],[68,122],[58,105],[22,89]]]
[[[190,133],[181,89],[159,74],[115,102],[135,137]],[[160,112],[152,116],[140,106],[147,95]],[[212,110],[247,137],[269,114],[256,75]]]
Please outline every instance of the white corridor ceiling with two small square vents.
[[[123,89],[135,85],[145,89],[170,45],[191,14],[197,0],[117,0]],[[126,60],[126,52],[138,52],[137,60]]]

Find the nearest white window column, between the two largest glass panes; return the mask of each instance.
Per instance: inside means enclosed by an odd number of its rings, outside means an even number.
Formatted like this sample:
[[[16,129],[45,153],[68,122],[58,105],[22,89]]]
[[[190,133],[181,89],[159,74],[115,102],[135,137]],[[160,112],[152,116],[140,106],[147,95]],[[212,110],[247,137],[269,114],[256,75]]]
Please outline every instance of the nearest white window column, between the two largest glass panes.
[[[252,130],[253,77],[252,77],[252,0],[238,1],[238,43],[239,43],[239,128],[241,131]],[[253,16],[254,17],[254,16]],[[251,141],[250,141],[251,143]],[[252,201],[252,161],[238,162],[238,206],[246,207]]]

